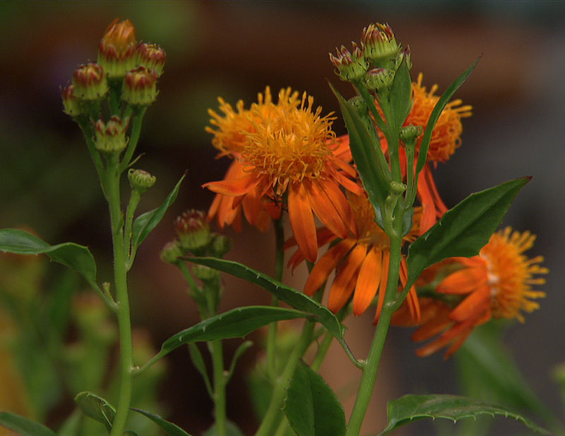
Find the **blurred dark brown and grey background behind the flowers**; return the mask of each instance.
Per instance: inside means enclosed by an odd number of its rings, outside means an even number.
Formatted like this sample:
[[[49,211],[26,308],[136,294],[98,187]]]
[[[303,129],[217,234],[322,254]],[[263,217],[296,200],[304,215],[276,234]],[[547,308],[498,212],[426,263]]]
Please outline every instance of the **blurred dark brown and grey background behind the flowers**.
[[[133,322],[148,331],[155,348],[198,320],[181,274],[160,261],[159,250],[174,237],[178,214],[208,208],[213,195],[201,184],[222,178],[229,164],[215,159],[204,131],[207,109],[218,107],[218,96],[232,104],[243,99],[249,107],[270,85],[273,92],[286,86],[307,91],[324,113],[339,113],[326,80],[346,97],[352,90],[334,75],[328,52],[358,42],[369,23],[389,23],[397,40],[410,45],[412,78],[421,71],[423,84],[437,83],[440,93],[482,56],[456,94],[473,107],[473,116],[463,120],[462,147],[438,166],[436,183],[451,207],[471,192],[533,176],[503,224],[537,234],[527,254],[545,256],[547,298],[524,325],[509,329],[504,343],[535,393],[563,416],[552,380],[554,367],[565,362],[563,1],[1,2],[0,227],[25,226],[52,244],[88,246],[100,281],[111,277],[109,217],[78,126],[62,111],[59,87],[79,63],[95,61],[100,37],[116,17],[129,18],[138,40],[167,52],[160,95],[148,109],[138,145],[146,155],[137,167],[157,176],[157,184],[139,210],[159,205],[188,171],[177,202],[141,246],[130,275]],[[334,126],[338,135],[345,133],[340,120]],[[234,238],[229,258],[273,274],[273,234],[249,226],[227,234]],[[287,278],[300,287],[305,272]],[[224,310],[270,301],[266,291],[236,279],[226,277],[225,285]],[[44,289],[49,291],[49,283]],[[369,312],[348,322],[346,338],[358,357],[366,355],[374,331]],[[261,335],[253,339],[260,342]],[[228,358],[237,344],[227,341]],[[367,434],[383,427],[388,399],[409,392],[458,393],[456,359],[417,358],[414,349],[410,331],[392,330]],[[246,353],[228,387],[228,416],[245,432],[256,425],[244,376],[256,353]],[[163,413],[199,434],[213,419],[203,383],[186,349],[172,353],[167,365],[159,392]],[[348,413],[360,373],[338,347],[321,372]],[[61,417],[54,413],[49,419],[57,425]],[[513,429],[503,423],[496,434]]]

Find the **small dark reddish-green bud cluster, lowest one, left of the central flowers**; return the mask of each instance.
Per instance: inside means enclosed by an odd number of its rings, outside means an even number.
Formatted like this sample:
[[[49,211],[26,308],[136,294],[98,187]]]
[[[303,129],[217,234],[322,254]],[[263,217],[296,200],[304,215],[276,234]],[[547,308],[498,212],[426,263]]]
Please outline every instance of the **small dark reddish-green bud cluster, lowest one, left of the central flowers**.
[[[188,253],[222,258],[232,248],[229,238],[210,230],[208,217],[201,210],[191,209],[179,215],[174,222],[174,230],[177,238],[161,251],[165,262],[176,263],[178,258]]]

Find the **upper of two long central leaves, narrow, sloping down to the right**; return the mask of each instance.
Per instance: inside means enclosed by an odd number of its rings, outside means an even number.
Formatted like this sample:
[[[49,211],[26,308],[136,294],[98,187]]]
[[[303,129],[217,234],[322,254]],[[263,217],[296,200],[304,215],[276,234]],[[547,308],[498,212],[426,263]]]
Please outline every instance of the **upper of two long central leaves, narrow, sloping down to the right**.
[[[343,339],[344,327],[341,325],[338,318],[335,317],[328,308],[314,301],[309,296],[304,295],[304,293],[290,286],[286,286],[280,283],[280,281],[276,281],[268,277],[268,275],[258,272],[246,265],[242,265],[239,262],[218,258],[186,258],[186,260],[198,263],[199,265],[206,265],[218,271],[227,272],[235,277],[261,286],[261,288],[269,291],[279,300],[284,301],[293,308],[315,315],[319,322],[321,322],[333,336],[339,340]]]

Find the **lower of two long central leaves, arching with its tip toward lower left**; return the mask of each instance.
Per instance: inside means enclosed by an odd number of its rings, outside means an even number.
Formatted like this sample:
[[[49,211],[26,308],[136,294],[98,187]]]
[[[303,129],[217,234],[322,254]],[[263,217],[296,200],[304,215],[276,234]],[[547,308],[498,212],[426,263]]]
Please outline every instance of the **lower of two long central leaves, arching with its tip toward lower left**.
[[[148,363],[145,363],[141,370],[153,365],[153,363],[160,358],[167,356],[168,353],[184,344],[244,337],[259,327],[268,325],[271,322],[292,320],[294,318],[307,317],[308,315],[308,313],[299,310],[260,305],[228,310],[225,313],[220,313],[220,315],[215,315],[202,322],[198,322],[198,324],[169,337],[169,339],[162,344],[161,351]]]

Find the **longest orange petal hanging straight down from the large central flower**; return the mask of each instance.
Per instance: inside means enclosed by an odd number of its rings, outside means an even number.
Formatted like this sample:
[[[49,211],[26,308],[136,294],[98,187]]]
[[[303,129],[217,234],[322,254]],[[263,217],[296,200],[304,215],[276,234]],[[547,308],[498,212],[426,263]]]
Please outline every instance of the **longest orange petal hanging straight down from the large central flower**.
[[[298,248],[310,262],[316,262],[316,223],[306,188],[302,183],[292,183],[288,189],[288,216]]]

